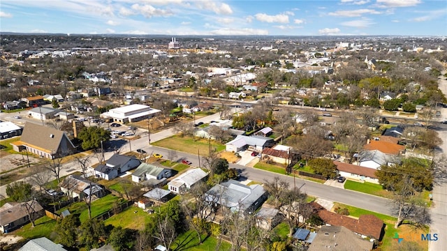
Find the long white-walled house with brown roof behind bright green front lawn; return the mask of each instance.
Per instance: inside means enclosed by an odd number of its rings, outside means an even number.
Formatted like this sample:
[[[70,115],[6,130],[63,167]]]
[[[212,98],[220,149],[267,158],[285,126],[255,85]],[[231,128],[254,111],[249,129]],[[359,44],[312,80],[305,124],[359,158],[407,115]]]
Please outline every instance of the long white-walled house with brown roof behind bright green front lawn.
[[[379,179],[376,176],[376,169],[339,161],[334,161],[334,164],[337,166],[339,174],[345,178],[379,184]]]

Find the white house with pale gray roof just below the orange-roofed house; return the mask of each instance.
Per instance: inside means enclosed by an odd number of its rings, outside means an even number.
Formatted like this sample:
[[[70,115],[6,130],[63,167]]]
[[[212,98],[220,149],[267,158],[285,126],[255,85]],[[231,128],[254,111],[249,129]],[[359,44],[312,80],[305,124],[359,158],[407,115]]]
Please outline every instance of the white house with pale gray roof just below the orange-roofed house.
[[[360,167],[378,169],[382,165],[400,164],[401,160],[397,156],[382,153],[379,150],[362,151],[357,157]]]

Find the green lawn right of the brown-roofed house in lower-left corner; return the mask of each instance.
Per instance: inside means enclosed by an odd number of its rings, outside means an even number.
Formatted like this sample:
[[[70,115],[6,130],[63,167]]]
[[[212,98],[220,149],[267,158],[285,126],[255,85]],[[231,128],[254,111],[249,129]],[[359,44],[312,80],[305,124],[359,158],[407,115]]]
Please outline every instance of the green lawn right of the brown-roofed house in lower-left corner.
[[[22,236],[23,238],[39,238],[39,237],[47,237],[50,240],[54,240],[52,232],[57,225],[56,220],[52,220],[48,216],[43,216],[38,218],[34,224],[36,227],[32,227],[31,223],[24,225],[20,229],[17,229],[12,232],[12,234],[16,234],[18,236]]]

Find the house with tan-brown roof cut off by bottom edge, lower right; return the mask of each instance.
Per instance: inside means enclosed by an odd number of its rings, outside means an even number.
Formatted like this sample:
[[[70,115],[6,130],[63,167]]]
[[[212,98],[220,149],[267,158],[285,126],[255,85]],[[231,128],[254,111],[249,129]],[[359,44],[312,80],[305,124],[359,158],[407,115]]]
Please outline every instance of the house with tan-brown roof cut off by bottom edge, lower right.
[[[309,246],[308,251],[369,251],[374,243],[367,241],[346,227],[323,226]]]

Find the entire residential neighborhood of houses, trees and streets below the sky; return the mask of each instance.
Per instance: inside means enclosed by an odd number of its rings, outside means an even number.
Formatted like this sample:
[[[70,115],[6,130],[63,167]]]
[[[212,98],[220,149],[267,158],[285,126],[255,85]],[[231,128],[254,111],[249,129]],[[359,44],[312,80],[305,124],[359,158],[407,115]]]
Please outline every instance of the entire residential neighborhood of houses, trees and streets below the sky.
[[[441,235],[445,40],[29,36],[0,53],[9,250],[432,250],[420,236]]]

